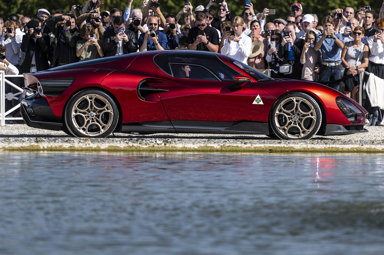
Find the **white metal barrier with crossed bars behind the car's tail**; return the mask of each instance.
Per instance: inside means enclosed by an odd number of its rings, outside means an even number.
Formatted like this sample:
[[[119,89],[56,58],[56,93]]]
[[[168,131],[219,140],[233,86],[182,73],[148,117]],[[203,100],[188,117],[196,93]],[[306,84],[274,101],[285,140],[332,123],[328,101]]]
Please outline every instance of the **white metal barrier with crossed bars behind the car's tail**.
[[[5,75],[4,72],[0,72],[0,126],[5,126],[5,121],[6,120],[11,120],[11,119],[20,120],[20,119],[23,119],[21,117],[20,118],[5,117],[8,114],[10,114],[13,111],[15,111],[16,109],[20,108],[20,104],[17,104],[13,108],[6,110],[5,109],[5,100],[12,100],[12,99],[18,100],[20,94],[23,93],[23,89],[20,88],[19,86],[15,85],[15,84],[13,84],[12,82],[10,82],[7,79],[8,77],[23,77],[23,75]],[[12,86],[13,88],[17,89],[18,92],[14,93],[14,94],[12,92],[9,92],[9,93],[5,94],[5,83],[7,83],[10,86]]]

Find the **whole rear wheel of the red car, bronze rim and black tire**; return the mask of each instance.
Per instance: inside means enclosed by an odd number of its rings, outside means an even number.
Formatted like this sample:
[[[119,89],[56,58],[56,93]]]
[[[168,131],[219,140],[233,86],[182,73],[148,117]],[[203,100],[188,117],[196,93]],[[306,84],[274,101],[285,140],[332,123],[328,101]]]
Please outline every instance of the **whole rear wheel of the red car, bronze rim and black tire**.
[[[64,119],[68,131],[75,137],[107,137],[118,124],[119,111],[104,91],[85,89],[70,98]]]

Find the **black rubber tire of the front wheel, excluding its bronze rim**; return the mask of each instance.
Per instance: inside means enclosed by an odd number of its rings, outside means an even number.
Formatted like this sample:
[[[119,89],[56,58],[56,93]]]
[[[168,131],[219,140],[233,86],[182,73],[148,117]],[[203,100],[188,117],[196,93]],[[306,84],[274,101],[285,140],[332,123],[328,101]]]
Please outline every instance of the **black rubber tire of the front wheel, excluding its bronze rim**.
[[[308,100],[313,105],[313,107],[315,108],[315,111],[316,111],[316,125],[313,128],[313,130],[308,135],[306,135],[305,137],[301,137],[301,138],[297,138],[297,139],[286,137],[285,135],[281,134],[278,131],[278,128],[276,127],[276,124],[275,124],[275,111],[276,111],[276,108],[281,103],[281,101],[285,100],[286,98],[290,98],[292,96],[300,96],[302,98],[305,98],[306,100]],[[275,103],[272,105],[272,108],[271,108],[269,121],[270,121],[270,128],[272,129],[273,133],[276,136],[278,136],[280,139],[283,139],[283,140],[310,139],[320,129],[321,121],[322,121],[322,113],[321,113],[321,108],[320,108],[319,104],[317,103],[317,101],[312,96],[310,96],[310,95],[308,95],[306,93],[302,93],[302,92],[291,92],[291,93],[287,93],[287,94],[281,96],[280,98],[278,98],[275,101]]]

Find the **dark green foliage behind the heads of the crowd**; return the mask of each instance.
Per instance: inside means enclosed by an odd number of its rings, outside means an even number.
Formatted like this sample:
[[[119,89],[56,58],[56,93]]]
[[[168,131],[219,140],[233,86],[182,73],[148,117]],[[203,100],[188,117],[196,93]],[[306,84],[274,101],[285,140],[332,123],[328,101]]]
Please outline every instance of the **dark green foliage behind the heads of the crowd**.
[[[227,0],[230,7],[232,8],[233,16],[240,16],[241,12],[245,6],[245,0]],[[132,9],[138,8],[141,4],[141,0],[134,0],[132,3]],[[192,6],[195,8],[197,5],[208,4],[208,0],[204,2],[201,1],[190,1]],[[290,14],[290,5],[293,3],[286,0],[271,0],[265,2],[257,2],[251,0],[253,3],[253,8],[255,12],[262,12],[264,8],[276,9],[276,15],[270,15],[267,18],[267,22],[271,22],[275,18],[284,18],[286,15]],[[377,13],[382,5],[381,0],[371,1],[368,0],[301,0],[298,1],[303,5],[303,13],[316,13],[319,17],[319,22],[321,19],[328,15],[331,10],[336,8],[344,8],[348,5],[351,5],[355,10],[370,5],[372,10],[375,10]],[[80,4],[84,5],[86,1],[77,1],[77,0],[68,0],[65,2],[62,1],[52,1],[52,0],[0,0],[0,5],[2,6],[0,10],[0,17],[7,18],[10,13],[20,13],[28,17],[35,17],[37,10],[40,8],[46,8],[48,11],[53,13],[57,9],[70,10],[72,5]],[[174,1],[174,0],[160,0],[160,9],[163,14],[173,13],[177,14],[181,8],[184,6],[184,1]],[[100,10],[111,10],[112,8],[119,8],[124,12],[127,6],[127,2],[120,0],[104,0],[104,4],[101,5]],[[214,5],[214,10],[217,10],[217,5]],[[182,22],[182,18],[180,19]]]

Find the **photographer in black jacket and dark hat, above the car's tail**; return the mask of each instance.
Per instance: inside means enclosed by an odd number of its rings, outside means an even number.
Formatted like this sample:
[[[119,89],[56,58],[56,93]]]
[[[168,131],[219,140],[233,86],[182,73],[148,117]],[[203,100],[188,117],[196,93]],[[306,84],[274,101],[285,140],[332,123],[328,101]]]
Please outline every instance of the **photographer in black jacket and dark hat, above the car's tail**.
[[[47,70],[51,52],[50,36],[41,32],[41,25],[36,20],[28,22],[26,27],[28,31],[21,45],[21,50],[26,53],[22,73]]]

